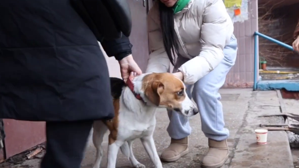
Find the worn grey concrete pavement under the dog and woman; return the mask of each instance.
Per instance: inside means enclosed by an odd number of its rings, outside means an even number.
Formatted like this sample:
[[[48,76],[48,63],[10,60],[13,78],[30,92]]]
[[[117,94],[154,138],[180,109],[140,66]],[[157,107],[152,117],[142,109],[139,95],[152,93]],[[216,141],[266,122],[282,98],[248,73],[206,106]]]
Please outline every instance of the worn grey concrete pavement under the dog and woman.
[[[226,128],[230,130],[228,145],[230,157],[223,168],[293,168],[293,159],[289,146],[287,132],[269,131],[268,143],[257,145],[254,129],[259,124],[271,123],[281,124],[282,117],[259,117],[263,114],[278,113],[281,111],[280,102],[276,91],[252,91],[252,89],[221,89],[221,102],[224,109]],[[298,109],[299,104],[292,109]],[[154,133],[155,144],[158,153],[168,147],[170,138],[166,132],[169,120],[166,110],[157,112],[157,125]],[[164,168],[198,168],[203,157],[208,151],[207,138],[201,131],[200,116],[196,115],[190,119],[192,134],[189,137],[189,154],[173,163],[163,163]],[[92,134],[92,131],[91,131]],[[105,139],[107,140],[107,135]],[[103,146],[107,149],[107,141]],[[81,168],[92,168],[95,160],[95,148],[92,139],[89,138],[85,157]],[[136,159],[146,167],[154,167],[147,156],[140,140],[133,144],[133,152]],[[104,151],[101,167],[106,167],[107,152]],[[27,160],[17,166],[31,166],[38,168],[40,159]],[[1,167],[1,165],[0,165]],[[10,166],[13,167],[13,166]],[[128,159],[119,152],[117,168],[130,168]]]

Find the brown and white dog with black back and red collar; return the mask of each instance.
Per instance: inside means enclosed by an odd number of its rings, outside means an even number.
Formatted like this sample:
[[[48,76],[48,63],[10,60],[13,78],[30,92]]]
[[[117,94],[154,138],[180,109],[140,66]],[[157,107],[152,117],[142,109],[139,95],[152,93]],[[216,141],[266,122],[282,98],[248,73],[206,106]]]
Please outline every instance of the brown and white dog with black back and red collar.
[[[137,138],[141,139],[155,167],[162,168],[153,139],[155,112],[157,108],[168,108],[186,117],[197,114],[196,105],[186,94],[186,86],[171,73],[142,74],[132,80],[131,87],[119,78],[110,80],[115,117],[93,124],[93,144],[97,148],[93,168],[100,167],[102,142],[107,129],[110,130],[107,168],[115,168],[119,149],[135,168],[145,168],[132,152],[132,142]]]

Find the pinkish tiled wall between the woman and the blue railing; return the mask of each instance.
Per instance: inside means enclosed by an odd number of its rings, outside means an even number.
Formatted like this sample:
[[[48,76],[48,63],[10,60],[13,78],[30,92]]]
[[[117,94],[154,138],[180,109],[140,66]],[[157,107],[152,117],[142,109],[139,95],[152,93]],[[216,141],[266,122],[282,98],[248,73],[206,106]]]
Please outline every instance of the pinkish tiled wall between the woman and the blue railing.
[[[235,66],[226,77],[224,88],[253,86],[254,32],[258,30],[258,1],[249,1],[249,20],[235,23],[234,34],[238,40],[238,55]]]

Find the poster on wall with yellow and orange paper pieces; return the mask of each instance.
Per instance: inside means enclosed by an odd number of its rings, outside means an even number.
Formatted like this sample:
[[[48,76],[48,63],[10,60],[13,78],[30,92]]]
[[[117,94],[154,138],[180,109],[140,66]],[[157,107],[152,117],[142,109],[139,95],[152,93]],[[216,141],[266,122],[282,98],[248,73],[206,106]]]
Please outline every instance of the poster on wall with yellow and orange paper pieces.
[[[249,19],[248,6],[249,0],[223,0],[226,10],[232,21],[244,22]]]

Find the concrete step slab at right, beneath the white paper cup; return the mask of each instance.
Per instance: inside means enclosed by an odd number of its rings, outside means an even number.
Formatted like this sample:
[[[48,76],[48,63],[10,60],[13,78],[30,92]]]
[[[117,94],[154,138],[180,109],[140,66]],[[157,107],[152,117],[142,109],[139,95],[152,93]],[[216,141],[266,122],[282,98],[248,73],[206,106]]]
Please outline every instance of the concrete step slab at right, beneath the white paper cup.
[[[280,93],[280,92],[279,92]],[[281,111],[276,91],[254,92],[246,111],[243,127],[238,131],[240,140],[235,147],[230,168],[294,168],[287,132],[268,131],[268,142],[256,144],[254,129],[259,124],[283,124],[282,117],[259,117]]]

